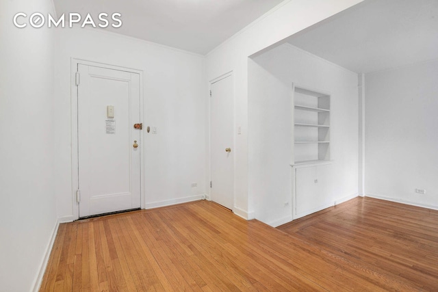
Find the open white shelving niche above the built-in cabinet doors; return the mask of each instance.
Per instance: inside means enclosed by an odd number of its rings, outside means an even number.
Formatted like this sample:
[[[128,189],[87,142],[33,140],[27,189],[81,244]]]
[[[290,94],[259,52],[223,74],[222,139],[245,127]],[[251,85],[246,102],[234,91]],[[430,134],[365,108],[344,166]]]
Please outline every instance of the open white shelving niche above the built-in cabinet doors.
[[[292,165],[330,161],[330,94],[292,85]]]

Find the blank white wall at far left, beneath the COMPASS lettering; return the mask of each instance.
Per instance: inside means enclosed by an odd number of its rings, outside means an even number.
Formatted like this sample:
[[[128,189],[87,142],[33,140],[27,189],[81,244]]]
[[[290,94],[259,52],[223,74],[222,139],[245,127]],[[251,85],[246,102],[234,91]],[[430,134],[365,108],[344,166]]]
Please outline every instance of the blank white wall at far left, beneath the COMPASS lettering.
[[[51,1],[0,5],[0,290],[30,291],[56,226],[53,192],[53,31],[14,27],[17,12]]]

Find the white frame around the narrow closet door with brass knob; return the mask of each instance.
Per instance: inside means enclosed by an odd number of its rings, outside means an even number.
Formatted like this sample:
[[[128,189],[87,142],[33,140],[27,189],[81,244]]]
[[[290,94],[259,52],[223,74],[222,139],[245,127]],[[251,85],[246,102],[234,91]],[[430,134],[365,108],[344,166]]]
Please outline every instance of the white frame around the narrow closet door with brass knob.
[[[224,73],[224,74],[222,74],[214,79],[211,79],[209,81],[208,89],[209,89],[209,93],[210,93],[211,92],[211,85],[213,85],[214,83],[216,83],[222,79],[225,79],[227,77],[231,77],[231,84],[232,84],[231,86],[233,87],[232,88],[232,92],[233,92],[233,104],[232,104],[232,107],[233,107],[233,143],[231,146],[233,147],[233,152],[234,152],[234,159],[233,159],[233,172],[234,172],[233,173],[233,181],[234,181],[234,184],[233,184],[233,209],[231,209],[231,211],[233,211],[233,213],[234,213],[234,210],[236,208],[235,207],[235,177],[236,177],[235,176],[235,165],[236,165],[236,163],[235,163],[235,158],[236,158],[236,155],[235,155],[236,154],[236,151],[235,151],[235,133],[236,133],[236,131],[235,131],[235,77],[233,74],[233,70],[226,72],[226,73]],[[207,185],[207,189],[209,190],[207,199],[212,200],[211,187],[209,187],[210,182],[211,182],[211,99],[210,99],[211,96],[209,93],[207,94],[207,96],[208,96],[208,151],[207,152],[209,155],[209,157],[208,157],[209,178],[208,178],[206,185]]]

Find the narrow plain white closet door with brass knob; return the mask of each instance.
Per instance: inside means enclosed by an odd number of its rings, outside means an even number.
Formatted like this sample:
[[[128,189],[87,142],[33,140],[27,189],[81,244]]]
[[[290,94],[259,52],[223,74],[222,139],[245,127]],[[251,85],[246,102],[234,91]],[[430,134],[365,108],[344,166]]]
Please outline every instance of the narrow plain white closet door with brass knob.
[[[211,200],[234,207],[234,95],[231,75],[211,83]]]

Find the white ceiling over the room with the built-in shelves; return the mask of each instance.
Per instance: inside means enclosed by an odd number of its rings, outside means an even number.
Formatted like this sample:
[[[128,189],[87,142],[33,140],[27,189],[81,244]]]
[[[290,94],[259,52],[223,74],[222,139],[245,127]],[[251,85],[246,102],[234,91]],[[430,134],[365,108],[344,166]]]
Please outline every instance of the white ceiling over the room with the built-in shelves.
[[[438,0],[367,0],[287,42],[358,73],[438,59]]]

